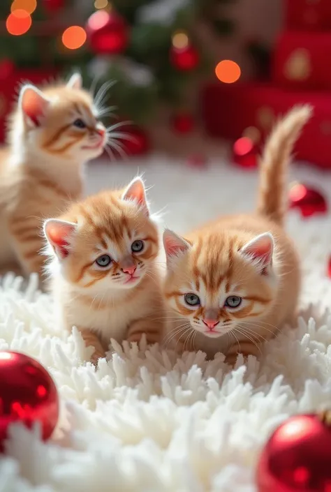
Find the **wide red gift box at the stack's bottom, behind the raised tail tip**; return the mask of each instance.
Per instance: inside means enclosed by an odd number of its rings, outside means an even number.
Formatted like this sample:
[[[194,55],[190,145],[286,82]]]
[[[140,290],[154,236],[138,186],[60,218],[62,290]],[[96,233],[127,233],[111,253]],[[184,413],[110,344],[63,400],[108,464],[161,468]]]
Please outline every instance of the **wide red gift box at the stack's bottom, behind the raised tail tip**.
[[[202,99],[207,133],[230,139],[253,127],[263,140],[280,114],[293,105],[310,103],[314,116],[304,127],[295,156],[331,168],[331,94],[284,91],[270,84],[209,84]]]

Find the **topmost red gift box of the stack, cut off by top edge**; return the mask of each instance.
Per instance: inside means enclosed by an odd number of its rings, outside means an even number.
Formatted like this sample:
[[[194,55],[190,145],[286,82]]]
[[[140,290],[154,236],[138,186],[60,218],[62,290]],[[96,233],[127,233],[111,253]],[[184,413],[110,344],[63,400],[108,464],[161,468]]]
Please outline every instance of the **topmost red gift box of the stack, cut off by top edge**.
[[[330,0],[287,0],[286,27],[289,29],[331,29]]]

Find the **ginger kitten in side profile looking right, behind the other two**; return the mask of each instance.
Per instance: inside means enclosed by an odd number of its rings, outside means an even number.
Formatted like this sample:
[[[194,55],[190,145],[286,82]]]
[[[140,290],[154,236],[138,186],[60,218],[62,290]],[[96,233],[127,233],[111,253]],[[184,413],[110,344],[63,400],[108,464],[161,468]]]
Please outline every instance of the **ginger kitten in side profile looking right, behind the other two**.
[[[42,221],[82,193],[82,166],[107,140],[79,74],[43,90],[26,84],[0,165],[0,264],[41,274]],[[15,267],[14,267],[15,268]]]

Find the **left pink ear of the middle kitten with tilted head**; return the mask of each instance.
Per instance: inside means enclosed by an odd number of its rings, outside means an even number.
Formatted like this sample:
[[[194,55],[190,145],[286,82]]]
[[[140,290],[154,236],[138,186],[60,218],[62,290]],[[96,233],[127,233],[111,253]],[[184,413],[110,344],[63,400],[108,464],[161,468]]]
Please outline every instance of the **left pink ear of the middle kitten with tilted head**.
[[[66,258],[69,254],[68,246],[71,246],[73,234],[77,229],[77,224],[67,221],[60,221],[57,218],[49,218],[44,223],[44,234],[47,241],[54,248],[59,260]]]

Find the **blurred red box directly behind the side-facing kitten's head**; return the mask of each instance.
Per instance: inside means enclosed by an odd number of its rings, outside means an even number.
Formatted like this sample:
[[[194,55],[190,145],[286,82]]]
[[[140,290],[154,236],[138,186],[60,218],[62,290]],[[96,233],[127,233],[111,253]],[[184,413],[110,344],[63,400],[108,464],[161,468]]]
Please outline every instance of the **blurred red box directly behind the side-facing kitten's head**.
[[[0,142],[4,142],[6,138],[6,119],[13,109],[20,84],[31,82],[39,85],[47,80],[54,80],[56,76],[55,70],[13,70],[5,80],[0,80]]]

